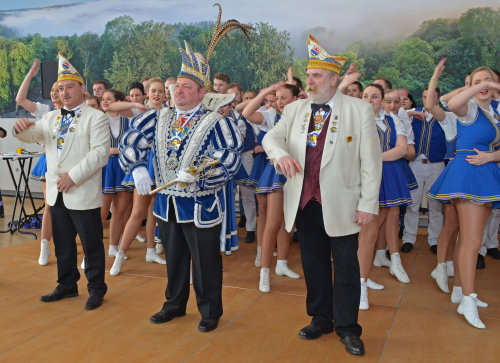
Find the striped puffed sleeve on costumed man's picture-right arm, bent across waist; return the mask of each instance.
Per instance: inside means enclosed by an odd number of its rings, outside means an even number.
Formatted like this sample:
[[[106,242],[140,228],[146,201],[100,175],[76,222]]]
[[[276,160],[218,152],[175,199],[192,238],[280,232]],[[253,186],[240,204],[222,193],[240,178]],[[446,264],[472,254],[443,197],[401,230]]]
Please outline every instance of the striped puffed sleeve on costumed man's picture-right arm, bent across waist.
[[[220,160],[206,178],[198,180],[202,189],[217,188],[225,184],[241,166],[243,142],[237,125],[226,117],[221,117],[214,125],[210,135],[210,156]]]

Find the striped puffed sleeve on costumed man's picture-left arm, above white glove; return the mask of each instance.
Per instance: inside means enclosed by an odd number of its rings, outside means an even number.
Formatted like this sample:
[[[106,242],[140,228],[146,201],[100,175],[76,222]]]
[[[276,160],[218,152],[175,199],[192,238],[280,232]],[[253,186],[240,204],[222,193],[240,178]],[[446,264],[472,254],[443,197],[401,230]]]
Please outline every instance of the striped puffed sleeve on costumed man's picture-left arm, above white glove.
[[[138,166],[147,167],[149,144],[153,141],[158,112],[146,111],[130,121],[129,130],[120,141],[120,166],[130,174]]]

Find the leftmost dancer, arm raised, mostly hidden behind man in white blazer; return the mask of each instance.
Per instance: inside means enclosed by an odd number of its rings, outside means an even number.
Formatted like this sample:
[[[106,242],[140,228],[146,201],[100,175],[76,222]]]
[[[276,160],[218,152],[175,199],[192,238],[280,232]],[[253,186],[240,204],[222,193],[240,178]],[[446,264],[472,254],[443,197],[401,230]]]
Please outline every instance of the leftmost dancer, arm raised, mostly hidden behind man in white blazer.
[[[35,118],[40,120],[42,116],[52,110],[60,109],[63,107],[63,103],[61,98],[59,97],[59,90],[57,88],[57,82],[52,85],[50,89],[50,99],[52,101],[52,105],[42,104],[39,102],[30,101],[28,97],[28,90],[31,84],[31,80],[36,77],[36,74],[39,70],[39,61],[35,59],[33,61],[33,65],[30,70],[26,74],[26,77],[19,88],[16,96],[16,102],[23,107],[26,111],[30,112]],[[43,145],[42,145],[43,146]],[[33,180],[41,181],[43,184],[43,197],[45,200],[45,173],[47,172],[47,159],[45,157],[45,152],[40,156],[38,162],[33,167],[30,178]],[[43,209],[43,218],[42,218],[42,229],[40,231],[41,241],[40,241],[40,257],[38,258],[38,263],[41,266],[47,265],[49,261],[50,248],[49,241],[52,238],[52,218],[50,216],[50,206],[45,203],[45,207]]]

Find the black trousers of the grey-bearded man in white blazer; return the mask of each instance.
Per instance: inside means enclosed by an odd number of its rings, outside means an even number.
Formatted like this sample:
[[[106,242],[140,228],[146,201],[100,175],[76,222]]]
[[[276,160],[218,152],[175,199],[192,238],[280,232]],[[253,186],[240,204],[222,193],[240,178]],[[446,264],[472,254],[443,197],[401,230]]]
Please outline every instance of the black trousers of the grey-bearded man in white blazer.
[[[358,234],[328,236],[321,204],[316,201],[310,201],[304,210],[298,211],[296,226],[307,287],[307,314],[313,317],[313,323],[321,326],[331,326],[333,320],[340,337],[361,336]]]

